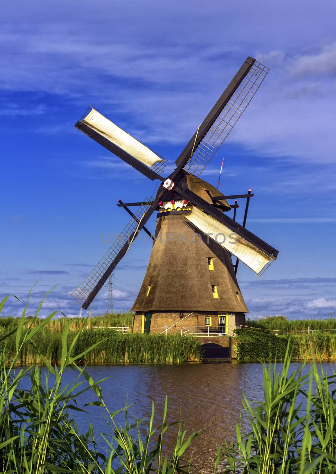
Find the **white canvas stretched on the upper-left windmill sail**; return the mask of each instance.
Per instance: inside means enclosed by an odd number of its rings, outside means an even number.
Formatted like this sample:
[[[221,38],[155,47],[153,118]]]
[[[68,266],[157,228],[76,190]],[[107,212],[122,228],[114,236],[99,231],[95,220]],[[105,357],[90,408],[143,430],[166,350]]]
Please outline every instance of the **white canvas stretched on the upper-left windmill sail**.
[[[82,121],[88,127],[92,128],[100,135],[107,138],[110,142],[114,143],[129,155],[134,156],[134,158],[149,167],[153,166],[153,164],[158,161],[163,161],[147,146],[140,143],[95,109],[92,109],[88,115],[82,119]]]

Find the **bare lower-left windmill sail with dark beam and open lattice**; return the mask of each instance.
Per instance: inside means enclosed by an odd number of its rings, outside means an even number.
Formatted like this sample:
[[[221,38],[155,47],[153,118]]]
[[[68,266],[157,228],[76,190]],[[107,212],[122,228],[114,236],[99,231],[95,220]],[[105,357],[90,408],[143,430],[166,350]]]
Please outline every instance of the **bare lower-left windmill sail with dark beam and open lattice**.
[[[109,275],[115,269],[122,257],[126,254],[129,246],[136,237],[136,231],[141,230],[145,225],[144,216],[151,207],[153,198],[145,199],[144,203],[136,210],[127,226],[115,238],[106,254],[101,258],[91,273],[82,281],[82,283],[71,293],[73,298],[81,304],[84,310],[87,310],[97,293],[100,291]],[[148,219],[148,216],[147,216]]]

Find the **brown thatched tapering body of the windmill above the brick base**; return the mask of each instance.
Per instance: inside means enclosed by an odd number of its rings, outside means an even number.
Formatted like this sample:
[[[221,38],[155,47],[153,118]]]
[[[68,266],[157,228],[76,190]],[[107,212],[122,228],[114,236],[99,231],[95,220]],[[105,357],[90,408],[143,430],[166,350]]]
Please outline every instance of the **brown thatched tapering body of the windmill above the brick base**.
[[[192,238],[199,240],[195,236],[199,231],[184,222],[182,212],[162,213],[162,216],[163,227],[160,217],[157,221],[158,238],[132,310],[247,313],[227,250],[205,235],[199,244],[192,243]],[[187,242],[182,240],[185,237]],[[209,257],[213,259],[214,270],[209,270]],[[217,285],[218,298],[213,297],[211,285]]]

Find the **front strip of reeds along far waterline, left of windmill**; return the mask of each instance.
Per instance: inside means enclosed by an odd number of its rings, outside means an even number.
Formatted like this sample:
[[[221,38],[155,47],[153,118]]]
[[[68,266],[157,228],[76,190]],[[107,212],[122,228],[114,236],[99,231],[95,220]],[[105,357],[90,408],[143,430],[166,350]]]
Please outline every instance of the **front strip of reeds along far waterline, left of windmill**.
[[[177,335],[143,335],[116,332],[110,329],[87,330],[86,322],[77,332],[71,331],[67,343],[73,343],[73,354],[82,354],[88,347],[95,346],[78,360],[79,364],[184,364],[200,362],[200,343],[195,337]],[[69,328],[70,325],[66,326]],[[48,328],[48,325],[45,326]],[[62,358],[63,333],[42,330],[32,337],[32,344],[24,344],[18,351],[17,360],[22,365],[43,363],[40,354],[53,365]],[[21,340],[25,337],[25,330]],[[74,342],[73,342],[74,341]],[[7,362],[15,352],[15,336],[7,340]]]

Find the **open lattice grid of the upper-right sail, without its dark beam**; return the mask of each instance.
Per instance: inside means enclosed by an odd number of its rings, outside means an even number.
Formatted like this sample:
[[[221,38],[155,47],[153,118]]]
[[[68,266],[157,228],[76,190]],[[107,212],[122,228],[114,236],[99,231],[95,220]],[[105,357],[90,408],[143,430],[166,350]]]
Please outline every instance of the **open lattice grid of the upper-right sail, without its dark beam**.
[[[185,165],[189,173],[200,176],[243,114],[268,71],[263,64],[254,62]]]

